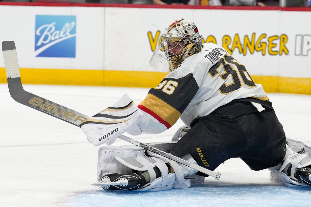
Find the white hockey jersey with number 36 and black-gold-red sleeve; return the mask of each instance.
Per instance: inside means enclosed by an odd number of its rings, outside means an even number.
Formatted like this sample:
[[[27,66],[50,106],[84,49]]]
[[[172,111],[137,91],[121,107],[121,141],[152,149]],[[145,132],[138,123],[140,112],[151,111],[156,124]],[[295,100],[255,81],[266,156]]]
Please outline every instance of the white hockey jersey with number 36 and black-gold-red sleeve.
[[[253,97],[268,100],[262,85],[255,84],[245,66],[213,43],[203,44],[201,52],[188,57],[151,88],[139,105],[142,133],[160,133],[180,117],[190,126],[193,119],[234,99]]]

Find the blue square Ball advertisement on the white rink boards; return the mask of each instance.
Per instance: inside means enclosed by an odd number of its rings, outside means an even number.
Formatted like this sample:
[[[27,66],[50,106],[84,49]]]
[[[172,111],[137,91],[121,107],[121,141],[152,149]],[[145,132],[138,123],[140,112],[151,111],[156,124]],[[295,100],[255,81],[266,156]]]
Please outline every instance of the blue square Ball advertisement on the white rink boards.
[[[36,15],[35,56],[76,57],[76,16]]]

